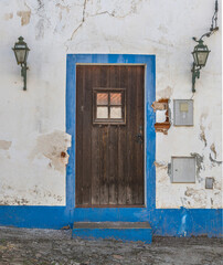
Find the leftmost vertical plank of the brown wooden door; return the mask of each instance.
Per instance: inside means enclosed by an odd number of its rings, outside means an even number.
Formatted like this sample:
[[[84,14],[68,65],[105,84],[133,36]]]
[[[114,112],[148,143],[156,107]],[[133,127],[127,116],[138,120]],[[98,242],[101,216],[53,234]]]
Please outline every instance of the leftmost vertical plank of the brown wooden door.
[[[83,86],[84,86],[84,68],[76,67],[76,176],[75,176],[75,201],[82,204],[83,197]]]

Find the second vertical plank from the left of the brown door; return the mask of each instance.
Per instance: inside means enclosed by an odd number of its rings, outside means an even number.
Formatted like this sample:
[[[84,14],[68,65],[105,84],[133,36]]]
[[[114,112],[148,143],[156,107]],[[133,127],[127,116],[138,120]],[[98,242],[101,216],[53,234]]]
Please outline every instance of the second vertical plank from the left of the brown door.
[[[92,198],[92,70],[85,66],[83,87],[83,205],[91,205]]]

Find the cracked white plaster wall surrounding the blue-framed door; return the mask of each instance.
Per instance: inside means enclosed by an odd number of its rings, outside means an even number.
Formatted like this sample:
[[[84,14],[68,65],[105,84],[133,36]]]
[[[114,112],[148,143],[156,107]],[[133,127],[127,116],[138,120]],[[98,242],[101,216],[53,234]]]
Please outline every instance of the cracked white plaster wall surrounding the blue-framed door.
[[[135,53],[156,54],[157,99],[169,97],[171,112],[173,99],[194,100],[193,127],[157,134],[157,208],[220,208],[222,165],[210,155],[222,160],[221,31],[205,40],[212,52],[194,95],[190,73],[191,38],[213,11],[214,0],[1,0],[0,204],[65,204],[66,54]],[[20,35],[31,49],[26,92],[11,51]],[[170,183],[171,156],[191,153],[203,159],[197,182]]]

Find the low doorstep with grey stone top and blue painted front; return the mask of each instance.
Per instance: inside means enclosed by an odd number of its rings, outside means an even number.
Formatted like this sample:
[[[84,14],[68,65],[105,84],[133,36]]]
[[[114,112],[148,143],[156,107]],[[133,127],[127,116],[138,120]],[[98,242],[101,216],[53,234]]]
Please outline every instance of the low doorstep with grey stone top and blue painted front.
[[[152,230],[148,222],[75,222],[72,236],[85,240],[140,241],[150,244]]]

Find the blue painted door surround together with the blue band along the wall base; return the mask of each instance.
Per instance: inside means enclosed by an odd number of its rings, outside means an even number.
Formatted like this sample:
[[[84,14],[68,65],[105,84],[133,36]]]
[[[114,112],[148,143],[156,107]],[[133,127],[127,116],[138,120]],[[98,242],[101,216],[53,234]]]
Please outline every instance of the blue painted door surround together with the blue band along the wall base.
[[[75,68],[76,64],[144,64],[146,128],[146,208],[81,209],[75,208]],[[66,61],[66,131],[72,135],[66,170],[65,206],[0,206],[0,225],[61,229],[73,222],[148,221],[155,235],[222,235],[222,209],[156,209],[156,56],[128,54],[68,54]]]

